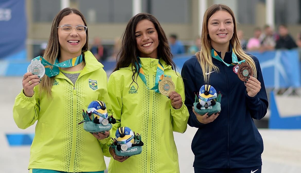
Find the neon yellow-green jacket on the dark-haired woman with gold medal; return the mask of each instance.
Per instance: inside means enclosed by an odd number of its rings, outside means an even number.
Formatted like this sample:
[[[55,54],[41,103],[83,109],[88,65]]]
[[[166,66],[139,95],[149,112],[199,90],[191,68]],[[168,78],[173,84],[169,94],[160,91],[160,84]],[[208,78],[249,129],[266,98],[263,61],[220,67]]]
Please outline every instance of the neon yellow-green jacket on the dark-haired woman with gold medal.
[[[152,88],[158,59],[140,59],[147,85]],[[112,128],[112,136],[115,136],[118,127],[126,126],[141,134],[144,146],[141,154],[129,157],[123,163],[111,158],[109,173],[180,172],[173,131],[184,133],[187,128],[189,113],[184,105],[184,85],[180,75],[177,76],[171,66],[162,59],[160,62],[164,67],[164,74],[172,77],[175,91],[181,94],[183,106],[180,109],[173,109],[168,97],[148,90],[140,77],[137,79],[139,87],[132,82],[130,66],[110,75],[108,92],[117,120]]]

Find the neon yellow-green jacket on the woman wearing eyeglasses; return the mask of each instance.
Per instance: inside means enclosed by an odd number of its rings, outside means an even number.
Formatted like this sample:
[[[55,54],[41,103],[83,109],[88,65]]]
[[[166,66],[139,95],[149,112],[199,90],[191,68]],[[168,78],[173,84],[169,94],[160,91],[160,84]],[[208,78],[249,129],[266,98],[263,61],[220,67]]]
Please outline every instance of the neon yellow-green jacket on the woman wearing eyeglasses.
[[[39,85],[34,88],[33,97],[26,97],[23,91],[16,97],[13,116],[17,126],[26,129],[37,121],[28,169],[64,172],[106,169],[102,147],[110,137],[98,141],[83,129],[83,124],[78,124],[83,120],[82,110],[87,110],[93,100],[104,101],[108,112],[112,109],[103,65],[91,52],[84,55],[86,65],[75,85],[61,72],[54,77],[53,100],[44,92],[39,97]],[[97,85],[89,84],[89,79]]]

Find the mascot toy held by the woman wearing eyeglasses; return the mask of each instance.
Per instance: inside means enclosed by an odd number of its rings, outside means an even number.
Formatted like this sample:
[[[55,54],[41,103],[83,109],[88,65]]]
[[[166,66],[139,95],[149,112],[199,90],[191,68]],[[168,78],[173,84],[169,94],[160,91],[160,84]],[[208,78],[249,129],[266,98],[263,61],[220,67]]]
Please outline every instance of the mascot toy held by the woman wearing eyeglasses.
[[[111,115],[109,117],[106,104],[103,101],[94,100],[88,105],[87,111],[82,110],[84,120],[84,129],[87,132],[104,132],[112,128],[112,124],[116,123],[116,119]]]

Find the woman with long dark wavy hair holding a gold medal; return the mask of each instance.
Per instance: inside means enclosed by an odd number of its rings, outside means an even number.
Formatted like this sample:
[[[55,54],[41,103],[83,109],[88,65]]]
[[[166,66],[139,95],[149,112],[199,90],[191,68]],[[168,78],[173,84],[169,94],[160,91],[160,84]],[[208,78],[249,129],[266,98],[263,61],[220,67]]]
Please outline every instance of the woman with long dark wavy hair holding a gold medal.
[[[158,90],[162,75],[171,77],[175,91],[163,95]],[[111,148],[109,172],[179,172],[173,132],[187,128],[183,80],[175,72],[166,35],[151,14],[139,13],[127,24],[108,88],[117,121],[112,136],[126,126],[144,142],[142,153],[131,157],[116,156]]]

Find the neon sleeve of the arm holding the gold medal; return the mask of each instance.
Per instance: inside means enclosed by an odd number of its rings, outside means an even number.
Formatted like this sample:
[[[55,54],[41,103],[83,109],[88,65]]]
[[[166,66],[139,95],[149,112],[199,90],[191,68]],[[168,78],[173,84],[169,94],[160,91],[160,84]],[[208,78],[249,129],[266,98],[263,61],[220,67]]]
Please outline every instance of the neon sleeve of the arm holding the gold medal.
[[[180,74],[178,74],[180,76]],[[170,105],[170,114],[172,116],[172,130],[179,133],[184,133],[187,129],[187,121],[189,117],[189,112],[187,107],[184,104],[185,93],[184,93],[184,84],[181,77],[177,78],[176,83],[176,92],[182,97],[182,107],[180,109],[174,109]],[[170,101],[170,100],[169,100]]]

